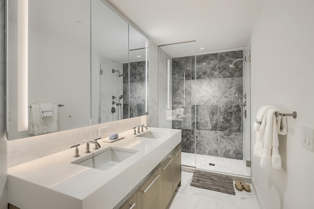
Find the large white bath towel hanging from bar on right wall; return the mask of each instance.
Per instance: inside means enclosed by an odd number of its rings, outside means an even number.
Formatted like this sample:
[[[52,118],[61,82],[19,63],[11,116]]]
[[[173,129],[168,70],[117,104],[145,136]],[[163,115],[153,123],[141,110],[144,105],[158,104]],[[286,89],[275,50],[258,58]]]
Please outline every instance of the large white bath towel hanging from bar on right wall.
[[[254,145],[254,155],[261,157],[261,167],[267,168],[270,165],[273,168],[281,168],[281,157],[279,155],[278,146],[278,134],[286,135],[288,126],[287,118],[282,116],[275,116],[275,113],[282,112],[276,107],[263,106],[258,111],[257,118],[259,123],[255,125],[256,130],[256,142]],[[261,115],[263,116],[262,119]]]

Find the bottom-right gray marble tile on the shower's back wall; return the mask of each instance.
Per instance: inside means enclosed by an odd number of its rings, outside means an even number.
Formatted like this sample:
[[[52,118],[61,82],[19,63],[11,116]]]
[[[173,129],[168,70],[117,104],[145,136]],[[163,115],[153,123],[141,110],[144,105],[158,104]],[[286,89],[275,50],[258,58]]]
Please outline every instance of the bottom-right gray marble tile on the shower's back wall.
[[[218,157],[242,160],[242,133],[219,132]]]

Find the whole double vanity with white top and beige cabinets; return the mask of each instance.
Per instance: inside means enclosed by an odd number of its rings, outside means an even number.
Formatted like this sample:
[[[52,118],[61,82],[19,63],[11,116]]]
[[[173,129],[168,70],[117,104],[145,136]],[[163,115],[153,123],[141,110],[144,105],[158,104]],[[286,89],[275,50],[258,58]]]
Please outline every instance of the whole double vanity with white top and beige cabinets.
[[[9,203],[20,209],[165,208],[181,182],[181,130],[149,127],[119,137],[99,139],[101,147],[91,153],[83,142],[79,157],[73,148],[10,167]]]

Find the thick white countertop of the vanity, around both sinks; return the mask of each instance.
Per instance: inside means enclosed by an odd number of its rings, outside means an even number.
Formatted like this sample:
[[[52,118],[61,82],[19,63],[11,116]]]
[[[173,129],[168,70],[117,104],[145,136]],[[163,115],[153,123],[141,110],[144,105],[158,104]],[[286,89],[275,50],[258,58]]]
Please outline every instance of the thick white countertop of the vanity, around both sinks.
[[[167,133],[163,139],[135,137],[133,130],[119,133],[125,139],[103,142],[99,150],[84,153],[85,144],[8,168],[9,203],[21,209],[112,209],[181,142],[181,130],[149,127]],[[145,130],[145,132],[147,132]],[[85,143],[85,142],[82,142]],[[137,152],[109,170],[89,168],[74,162],[107,147]]]

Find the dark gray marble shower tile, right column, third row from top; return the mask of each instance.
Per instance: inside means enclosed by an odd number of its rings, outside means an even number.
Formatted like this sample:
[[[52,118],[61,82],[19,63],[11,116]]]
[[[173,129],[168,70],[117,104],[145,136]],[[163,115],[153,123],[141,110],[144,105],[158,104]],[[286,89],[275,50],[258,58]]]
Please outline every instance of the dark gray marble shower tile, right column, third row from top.
[[[218,105],[218,131],[240,132],[239,105]]]

